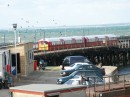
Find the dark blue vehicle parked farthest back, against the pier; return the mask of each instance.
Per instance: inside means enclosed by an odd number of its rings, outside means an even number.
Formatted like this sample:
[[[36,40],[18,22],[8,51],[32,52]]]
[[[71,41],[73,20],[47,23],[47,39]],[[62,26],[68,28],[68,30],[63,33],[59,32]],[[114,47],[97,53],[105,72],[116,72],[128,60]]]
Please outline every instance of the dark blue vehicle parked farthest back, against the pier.
[[[84,56],[67,56],[64,58],[62,62],[62,70],[64,70],[65,66],[70,66],[73,63],[76,62],[86,62],[86,63],[91,63],[86,57]]]

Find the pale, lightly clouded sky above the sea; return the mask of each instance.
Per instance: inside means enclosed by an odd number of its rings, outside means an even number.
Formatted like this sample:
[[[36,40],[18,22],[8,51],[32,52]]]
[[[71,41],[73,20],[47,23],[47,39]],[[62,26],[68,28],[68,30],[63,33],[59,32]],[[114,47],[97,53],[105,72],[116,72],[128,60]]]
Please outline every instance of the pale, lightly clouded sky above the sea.
[[[0,29],[130,23],[130,0],[0,0]]]

